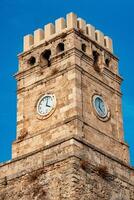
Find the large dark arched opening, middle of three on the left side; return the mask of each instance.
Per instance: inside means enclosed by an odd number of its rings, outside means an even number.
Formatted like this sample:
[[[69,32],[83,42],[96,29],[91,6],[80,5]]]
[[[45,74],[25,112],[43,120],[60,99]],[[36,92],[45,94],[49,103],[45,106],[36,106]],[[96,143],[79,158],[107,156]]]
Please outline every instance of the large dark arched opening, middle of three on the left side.
[[[41,65],[41,67],[43,67],[45,65],[47,65],[49,67],[51,65],[50,56],[51,56],[51,50],[50,49],[45,50],[41,54],[41,56],[40,56],[40,65]]]

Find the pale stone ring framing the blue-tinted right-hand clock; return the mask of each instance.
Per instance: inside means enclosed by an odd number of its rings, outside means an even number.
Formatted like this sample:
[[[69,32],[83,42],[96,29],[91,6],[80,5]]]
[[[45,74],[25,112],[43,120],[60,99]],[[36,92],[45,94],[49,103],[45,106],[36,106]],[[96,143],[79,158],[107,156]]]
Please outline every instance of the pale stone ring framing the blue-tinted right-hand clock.
[[[104,105],[105,105],[105,109],[106,109],[106,114],[104,116],[100,115],[100,113],[98,112],[97,108],[96,108],[96,105],[95,105],[95,100],[96,98],[100,98]],[[102,95],[100,94],[94,94],[92,96],[92,104],[93,104],[93,108],[94,108],[94,111],[95,111],[95,115],[101,120],[101,121],[107,121],[109,118],[110,118],[110,110],[109,110],[109,107],[106,103],[106,101],[104,100],[104,98],[102,97]]]

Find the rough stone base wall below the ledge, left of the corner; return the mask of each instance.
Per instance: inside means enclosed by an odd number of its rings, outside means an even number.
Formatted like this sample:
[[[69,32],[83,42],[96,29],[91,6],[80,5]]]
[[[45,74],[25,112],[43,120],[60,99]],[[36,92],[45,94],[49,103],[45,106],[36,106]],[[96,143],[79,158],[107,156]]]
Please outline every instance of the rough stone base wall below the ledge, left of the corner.
[[[71,199],[72,159],[43,167],[0,186],[0,200]]]

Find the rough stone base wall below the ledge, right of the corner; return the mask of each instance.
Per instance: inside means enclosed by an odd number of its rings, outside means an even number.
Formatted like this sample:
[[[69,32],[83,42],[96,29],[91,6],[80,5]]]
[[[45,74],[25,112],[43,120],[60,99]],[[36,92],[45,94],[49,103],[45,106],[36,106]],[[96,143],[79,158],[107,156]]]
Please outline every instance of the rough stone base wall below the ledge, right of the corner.
[[[118,177],[101,171],[92,163],[76,162],[74,170],[74,199],[77,200],[133,200],[134,187]]]

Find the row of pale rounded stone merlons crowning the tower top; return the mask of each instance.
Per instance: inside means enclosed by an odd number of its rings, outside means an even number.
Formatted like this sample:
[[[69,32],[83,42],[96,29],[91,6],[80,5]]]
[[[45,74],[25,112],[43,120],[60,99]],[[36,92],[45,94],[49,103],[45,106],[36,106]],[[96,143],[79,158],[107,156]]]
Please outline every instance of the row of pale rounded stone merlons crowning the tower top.
[[[91,24],[86,24],[86,21],[78,18],[76,14],[69,13],[64,18],[59,18],[55,21],[55,25],[49,23],[44,26],[43,29],[37,29],[34,31],[34,35],[28,34],[24,36],[24,51],[28,51],[31,48],[38,46],[45,41],[48,41],[55,36],[64,33],[70,29],[76,29],[81,31],[84,35],[91,40],[97,42],[100,46],[113,53],[112,39],[108,36],[96,30]]]

